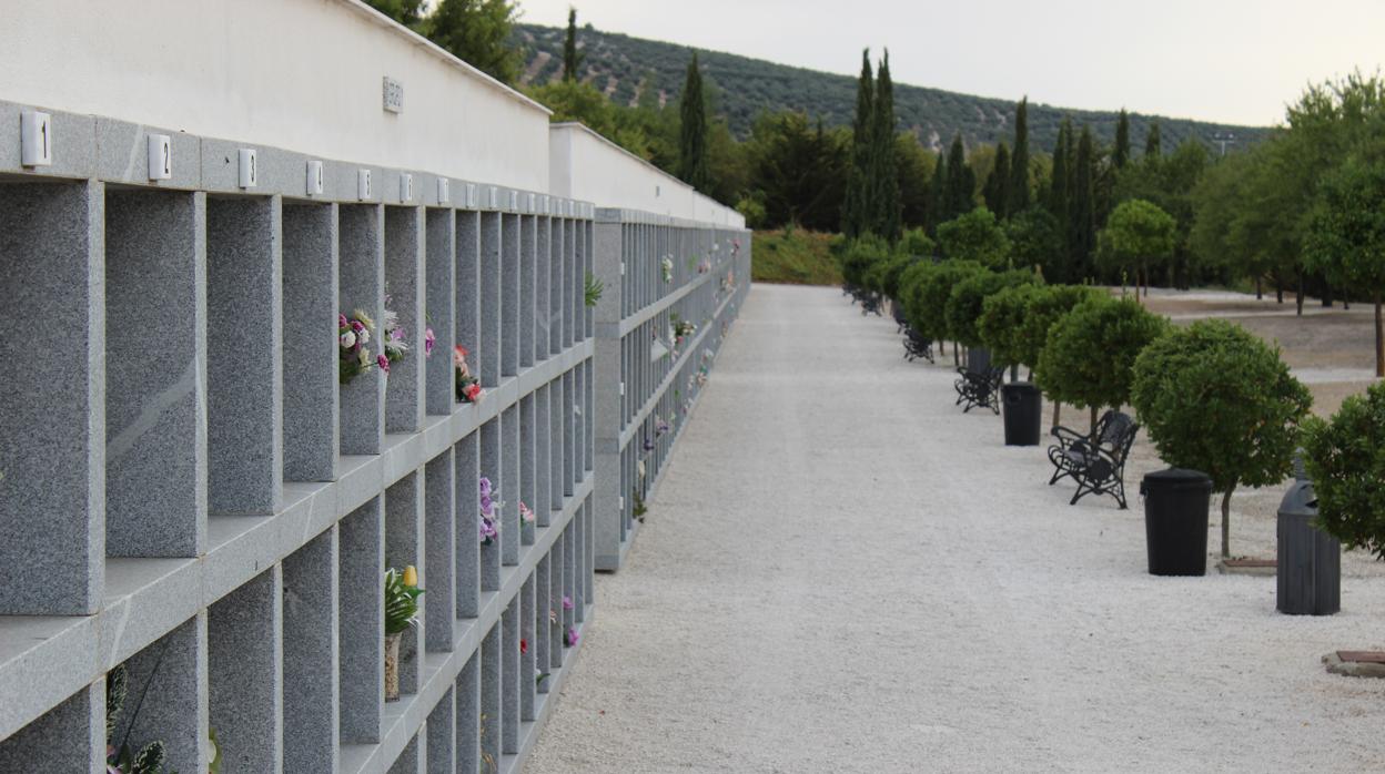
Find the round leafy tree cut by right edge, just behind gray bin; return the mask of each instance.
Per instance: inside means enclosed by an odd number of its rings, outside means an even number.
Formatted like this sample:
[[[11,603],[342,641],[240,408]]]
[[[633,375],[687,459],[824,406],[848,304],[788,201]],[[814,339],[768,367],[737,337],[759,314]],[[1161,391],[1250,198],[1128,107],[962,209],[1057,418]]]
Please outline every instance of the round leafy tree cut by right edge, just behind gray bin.
[[[1328,421],[1309,417],[1303,450],[1319,526],[1385,559],[1385,382],[1349,396]]]

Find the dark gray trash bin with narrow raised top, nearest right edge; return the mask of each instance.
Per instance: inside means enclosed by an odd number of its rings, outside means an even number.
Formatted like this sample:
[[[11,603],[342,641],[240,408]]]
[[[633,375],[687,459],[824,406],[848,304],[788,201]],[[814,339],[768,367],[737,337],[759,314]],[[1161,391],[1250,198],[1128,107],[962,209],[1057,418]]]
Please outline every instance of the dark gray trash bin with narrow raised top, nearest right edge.
[[[1332,615],[1342,609],[1342,544],[1313,526],[1317,494],[1299,478],[1284,493],[1278,519],[1274,606],[1288,615]]]

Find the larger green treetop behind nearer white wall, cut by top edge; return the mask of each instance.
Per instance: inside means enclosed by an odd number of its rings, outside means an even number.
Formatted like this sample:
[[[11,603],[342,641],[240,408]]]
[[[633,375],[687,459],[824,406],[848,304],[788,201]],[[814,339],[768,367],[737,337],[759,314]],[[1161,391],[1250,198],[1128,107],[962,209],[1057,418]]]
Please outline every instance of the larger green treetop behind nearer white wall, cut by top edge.
[[[518,14],[507,0],[440,0],[420,24],[420,32],[500,83],[514,83],[521,53],[510,39]]]

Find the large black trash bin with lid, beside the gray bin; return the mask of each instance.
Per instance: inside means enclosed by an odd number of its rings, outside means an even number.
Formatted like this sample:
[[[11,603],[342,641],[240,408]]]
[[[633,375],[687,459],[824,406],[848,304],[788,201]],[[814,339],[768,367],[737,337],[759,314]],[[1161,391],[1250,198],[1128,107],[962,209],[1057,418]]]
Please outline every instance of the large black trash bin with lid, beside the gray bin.
[[[1150,575],[1206,575],[1212,478],[1169,468],[1140,482]]]

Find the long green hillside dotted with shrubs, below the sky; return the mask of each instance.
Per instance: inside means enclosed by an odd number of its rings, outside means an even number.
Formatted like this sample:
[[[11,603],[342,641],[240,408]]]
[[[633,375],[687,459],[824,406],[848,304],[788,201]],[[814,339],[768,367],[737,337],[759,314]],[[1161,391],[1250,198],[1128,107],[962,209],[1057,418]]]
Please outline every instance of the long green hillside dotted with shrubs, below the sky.
[[[518,43],[524,47],[526,66],[522,83],[547,83],[562,73],[564,30],[537,25],[518,25]],[[676,101],[683,87],[691,48],[674,43],[601,32],[590,26],[579,30],[579,46],[586,54],[583,79],[623,104]],[[828,126],[848,126],[856,108],[853,76],[778,65],[717,51],[698,51],[706,79],[716,86],[716,112],[724,115],[738,137],[749,134],[751,122],[760,112],[803,111],[821,116]],[[902,53],[895,54],[896,60]],[[968,145],[1008,140],[1014,104],[957,94],[940,89],[895,84],[895,114],[925,145],[940,150],[961,132]],[[1029,105],[1029,141],[1044,151],[1058,137],[1058,123],[1071,115],[1087,123],[1104,143],[1115,136],[1115,111],[1075,111],[1053,105]],[[1137,148],[1144,145],[1145,129],[1158,118],[1165,152],[1186,137],[1199,137],[1213,144],[1220,133],[1235,136],[1240,145],[1255,143],[1266,127],[1230,126],[1187,119],[1130,115],[1130,136]]]

